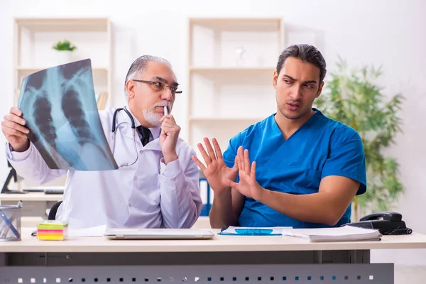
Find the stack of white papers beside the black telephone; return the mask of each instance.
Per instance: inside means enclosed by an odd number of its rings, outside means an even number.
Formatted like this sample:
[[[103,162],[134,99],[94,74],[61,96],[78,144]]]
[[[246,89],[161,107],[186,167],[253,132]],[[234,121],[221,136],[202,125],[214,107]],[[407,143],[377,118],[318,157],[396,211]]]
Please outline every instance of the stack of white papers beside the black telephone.
[[[377,229],[365,229],[354,226],[319,229],[283,229],[283,235],[293,236],[310,242],[321,241],[380,241]]]

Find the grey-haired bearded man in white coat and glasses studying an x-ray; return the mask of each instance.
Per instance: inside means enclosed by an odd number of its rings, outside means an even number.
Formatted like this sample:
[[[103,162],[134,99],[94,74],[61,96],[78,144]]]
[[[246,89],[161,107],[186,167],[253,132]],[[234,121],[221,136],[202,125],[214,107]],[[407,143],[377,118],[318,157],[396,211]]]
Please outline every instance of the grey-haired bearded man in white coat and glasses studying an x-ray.
[[[173,115],[165,115],[176,92],[178,82],[167,60],[146,55],[133,62],[126,75],[126,110],[116,113],[114,126],[116,109],[99,113],[117,164],[127,164],[119,170],[48,168],[28,141],[26,121],[16,108],[1,123],[9,142],[7,158],[18,175],[40,184],[67,174],[56,219],[72,227],[190,228],[202,209],[199,170],[191,159],[195,151],[179,138],[180,126]],[[139,133],[132,131],[131,120]]]

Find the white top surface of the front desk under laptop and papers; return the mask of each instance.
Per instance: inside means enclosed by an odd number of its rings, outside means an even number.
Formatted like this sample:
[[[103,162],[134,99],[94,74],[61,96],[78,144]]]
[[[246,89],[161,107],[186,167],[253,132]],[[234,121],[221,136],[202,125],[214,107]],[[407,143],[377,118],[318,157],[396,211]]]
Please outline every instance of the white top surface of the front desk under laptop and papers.
[[[22,229],[22,241],[0,241],[0,253],[13,252],[209,252],[209,251],[335,251],[426,249],[426,235],[383,236],[381,241],[307,243],[289,236],[214,236],[207,240],[124,241],[103,237],[72,237],[39,241],[33,229]],[[212,229],[215,233],[217,229]]]

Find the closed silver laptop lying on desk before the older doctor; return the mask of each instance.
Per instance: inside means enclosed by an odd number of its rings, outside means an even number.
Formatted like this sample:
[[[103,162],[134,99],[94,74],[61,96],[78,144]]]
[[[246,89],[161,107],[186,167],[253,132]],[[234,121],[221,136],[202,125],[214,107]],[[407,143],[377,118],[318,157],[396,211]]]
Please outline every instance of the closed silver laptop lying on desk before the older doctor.
[[[148,239],[212,239],[214,234],[208,229],[107,229],[107,239],[148,240]]]

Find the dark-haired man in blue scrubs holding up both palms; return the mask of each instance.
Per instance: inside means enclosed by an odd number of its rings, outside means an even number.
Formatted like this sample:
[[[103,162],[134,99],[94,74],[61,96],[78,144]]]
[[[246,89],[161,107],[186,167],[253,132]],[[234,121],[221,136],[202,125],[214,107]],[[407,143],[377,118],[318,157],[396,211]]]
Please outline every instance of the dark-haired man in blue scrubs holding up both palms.
[[[213,228],[226,226],[340,226],[351,200],[366,192],[359,134],[327,118],[320,96],[325,60],[311,45],[281,53],[273,74],[277,112],[231,138],[223,154],[216,139],[195,156],[214,190]],[[238,178],[237,178],[238,176]]]

